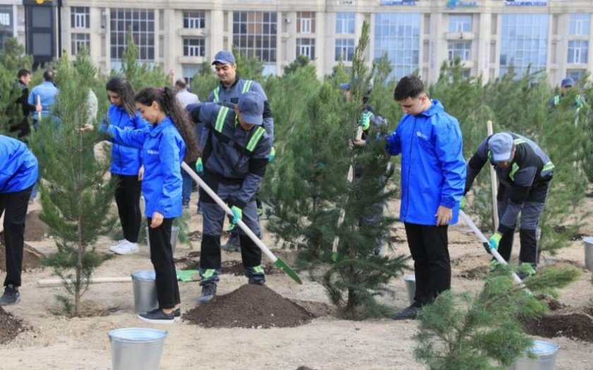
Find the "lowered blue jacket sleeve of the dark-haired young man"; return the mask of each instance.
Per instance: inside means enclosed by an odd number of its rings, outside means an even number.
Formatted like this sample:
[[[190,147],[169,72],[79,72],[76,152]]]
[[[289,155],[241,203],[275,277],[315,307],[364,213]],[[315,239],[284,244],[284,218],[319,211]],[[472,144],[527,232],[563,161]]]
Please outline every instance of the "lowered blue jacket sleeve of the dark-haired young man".
[[[465,189],[466,169],[461,130],[457,121],[451,118],[441,118],[433,130],[436,155],[441,160],[443,174],[441,205],[453,208],[461,201]]]

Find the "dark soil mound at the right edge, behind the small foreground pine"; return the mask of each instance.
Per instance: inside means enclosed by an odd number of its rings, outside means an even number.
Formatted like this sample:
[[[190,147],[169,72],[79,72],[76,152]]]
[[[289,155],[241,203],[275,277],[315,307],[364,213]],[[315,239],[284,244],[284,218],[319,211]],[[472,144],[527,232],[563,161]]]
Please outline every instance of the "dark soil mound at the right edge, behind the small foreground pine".
[[[523,320],[525,332],[546,338],[568,337],[593,342],[593,318],[586,314],[549,315]]]

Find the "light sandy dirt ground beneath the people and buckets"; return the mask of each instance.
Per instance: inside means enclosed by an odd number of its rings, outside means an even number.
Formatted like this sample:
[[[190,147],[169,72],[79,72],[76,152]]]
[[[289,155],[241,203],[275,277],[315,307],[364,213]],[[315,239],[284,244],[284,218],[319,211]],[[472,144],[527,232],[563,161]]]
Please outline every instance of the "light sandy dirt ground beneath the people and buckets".
[[[193,198],[196,194],[193,194]],[[593,208],[593,199],[587,198],[583,209]],[[39,210],[38,203],[30,210]],[[390,205],[390,212],[397,215],[399,205]],[[192,209],[195,211],[195,209]],[[585,234],[593,234],[593,220],[588,223]],[[1,225],[1,224],[0,224]],[[190,231],[201,228],[200,215],[191,219]],[[198,235],[196,233],[194,235]],[[453,265],[453,290],[477,291],[487,271],[489,258],[481,245],[465,225],[450,227],[450,254]],[[515,238],[515,242],[518,241]],[[395,224],[392,240],[397,241],[393,251],[388,253],[408,254],[403,225]],[[97,249],[109,253],[114,241],[102,237]],[[264,242],[277,251],[269,233]],[[53,239],[27,240],[41,253],[52,253]],[[517,252],[518,246],[515,248]],[[193,249],[178,244],[176,258],[184,265],[198,258],[199,241],[193,242]],[[516,253],[515,258],[516,258]],[[238,292],[246,278],[234,274],[239,253],[222,253],[229,268],[218,285],[217,294]],[[582,241],[573,241],[570,248],[560,256],[545,256],[545,264],[554,261],[573,263],[584,267]],[[4,264],[4,261],[0,261]],[[135,270],[151,270],[146,246],[131,256],[116,256],[98,268],[96,277],[126,277]],[[95,316],[67,319],[56,316],[59,305],[54,296],[63,293],[61,287],[40,287],[37,280],[52,277],[47,268],[32,268],[23,273],[20,288],[21,301],[16,306],[6,307],[6,312],[22,322],[23,328],[16,338],[0,344],[0,369],[111,369],[109,330],[126,327],[152,327],[168,331],[160,369],[401,369],[422,368],[414,361],[414,334],[417,322],[391,321],[388,319],[369,321],[345,321],[335,317],[323,287],[311,282],[306,273],[301,273],[303,285],[296,285],[282,273],[268,275],[267,287],[282,297],[296,302],[316,316],[309,323],[288,328],[205,328],[183,320],[172,326],[157,326],[143,323],[133,310],[131,282],[101,283],[90,285],[85,294],[85,307]],[[4,278],[4,273],[0,273]],[[583,268],[580,280],[561,291],[558,306],[569,306],[593,314],[592,274]],[[180,282],[181,309],[184,315],[195,317],[196,302],[200,293],[198,282]],[[401,309],[408,305],[403,279],[390,282],[395,297],[384,297],[383,302]],[[244,289],[244,288],[241,288]],[[553,312],[556,314],[556,311]],[[6,316],[6,315],[4,315]],[[1,325],[0,330],[5,330]],[[557,338],[534,338],[560,345],[556,357],[556,369],[579,370],[593,368],[592,342],[573,340],[564,336]]]

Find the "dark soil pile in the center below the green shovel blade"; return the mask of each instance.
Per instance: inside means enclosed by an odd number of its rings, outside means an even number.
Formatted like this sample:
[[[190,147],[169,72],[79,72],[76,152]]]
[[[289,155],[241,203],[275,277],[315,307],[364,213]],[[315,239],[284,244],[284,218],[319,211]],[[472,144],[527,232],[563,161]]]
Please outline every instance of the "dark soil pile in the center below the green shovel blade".
[[[206,328],[292,328],[313,319],[301,306],[265,285],[243,285],[182,317]]]

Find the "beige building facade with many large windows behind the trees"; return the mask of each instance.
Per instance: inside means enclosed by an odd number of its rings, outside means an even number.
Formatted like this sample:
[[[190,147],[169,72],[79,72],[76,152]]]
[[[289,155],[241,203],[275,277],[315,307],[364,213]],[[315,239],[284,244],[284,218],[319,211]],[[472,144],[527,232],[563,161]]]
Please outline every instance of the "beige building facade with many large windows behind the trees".
[[[3,3],[35,1],[2,1]],[[82,45],[102,71],[119,68],[131,29],[139,59],[192,78],[200,64],[232,44],[282,73],[304,54],[319,76],[352,63],[362,23],[371,25],[369,60],[386,56],[393,78],[415,70],[429,81],[443,61],[496,78],[514,68],[543,70],[556,85],[591,71],[591,0],[45,0],[54,11],[58,49]],[[13,15],[18,14],[13,6]],[[34,8],[28,5],[27,14]],[[0,13],[1,17],[1,13]],[[37,19],[32,22],[37,22]],[[0,25],[2,18],[0,18]],[[18,22],[17,22],[18,24]],[[25,25],[28,33],[32,25]],[[18,34],[18,25],[14,26]],[[22,35],[21,35],[22,37]],[[25,37],[35,43],[35,37]],[[39,44],[39,43],[38,43]],[[46,44],[46,42],[42,43]],[[27,47],[28,50],[34,48]]]

